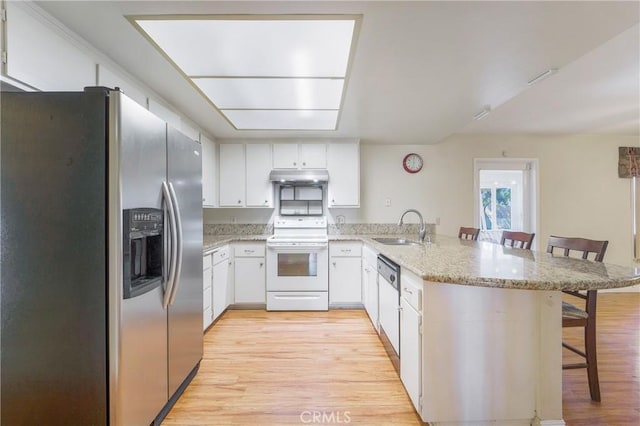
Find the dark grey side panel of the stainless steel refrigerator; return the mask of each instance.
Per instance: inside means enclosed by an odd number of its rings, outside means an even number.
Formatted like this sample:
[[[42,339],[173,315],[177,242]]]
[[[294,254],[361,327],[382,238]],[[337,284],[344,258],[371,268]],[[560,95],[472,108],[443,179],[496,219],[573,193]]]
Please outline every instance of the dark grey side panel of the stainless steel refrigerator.
[[[0,110],[0,424],[105,425],[105,95]]]

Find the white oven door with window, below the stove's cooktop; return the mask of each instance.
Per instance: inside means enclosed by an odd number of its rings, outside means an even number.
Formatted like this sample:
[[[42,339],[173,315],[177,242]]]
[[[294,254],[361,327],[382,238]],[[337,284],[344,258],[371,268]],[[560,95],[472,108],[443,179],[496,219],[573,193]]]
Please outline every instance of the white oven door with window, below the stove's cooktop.
[[[327,244],[272,243],[267,247],[267,291],[328,291]]]

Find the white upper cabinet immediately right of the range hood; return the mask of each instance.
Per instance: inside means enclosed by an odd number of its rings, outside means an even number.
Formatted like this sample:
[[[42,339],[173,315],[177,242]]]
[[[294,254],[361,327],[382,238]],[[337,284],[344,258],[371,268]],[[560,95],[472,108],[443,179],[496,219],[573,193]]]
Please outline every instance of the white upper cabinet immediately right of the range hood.
[[[360,207],[360,144],[327,145],[329,207]]]

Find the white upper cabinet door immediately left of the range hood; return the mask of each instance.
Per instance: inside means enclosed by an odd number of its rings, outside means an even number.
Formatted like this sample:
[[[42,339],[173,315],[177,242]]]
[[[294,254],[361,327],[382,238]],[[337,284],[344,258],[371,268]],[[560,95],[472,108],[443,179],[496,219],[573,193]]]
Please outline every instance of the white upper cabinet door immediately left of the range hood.
[[[273,184],[269,180],[271,172],[271,145],[247,144],[247,207],[273,207]]]

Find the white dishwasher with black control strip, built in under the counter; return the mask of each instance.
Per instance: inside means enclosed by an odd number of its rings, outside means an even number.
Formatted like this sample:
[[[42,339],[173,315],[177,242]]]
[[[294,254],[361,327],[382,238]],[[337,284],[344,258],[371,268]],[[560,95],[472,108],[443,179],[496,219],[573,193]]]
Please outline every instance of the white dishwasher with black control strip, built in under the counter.
[[[400,368],[400,266],[378,255],[380,338],[396,371]]]

